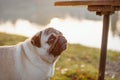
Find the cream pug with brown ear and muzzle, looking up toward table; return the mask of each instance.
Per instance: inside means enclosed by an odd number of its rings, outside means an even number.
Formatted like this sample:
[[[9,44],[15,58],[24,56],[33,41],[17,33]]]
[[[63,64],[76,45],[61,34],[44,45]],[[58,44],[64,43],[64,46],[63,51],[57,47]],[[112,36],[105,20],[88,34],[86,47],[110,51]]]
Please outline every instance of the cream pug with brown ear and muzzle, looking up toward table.
[[[49,80],[67,48],[63,34],[46,28],[14,46],[0,47],[0,80]]]

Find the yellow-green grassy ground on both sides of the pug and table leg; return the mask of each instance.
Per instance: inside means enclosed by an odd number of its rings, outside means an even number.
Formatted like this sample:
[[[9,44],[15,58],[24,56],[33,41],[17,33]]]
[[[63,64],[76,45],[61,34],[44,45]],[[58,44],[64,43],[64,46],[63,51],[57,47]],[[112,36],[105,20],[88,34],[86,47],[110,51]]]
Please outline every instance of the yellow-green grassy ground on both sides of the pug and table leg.
[[[14,45],[25,39],[26,37],[18,35],[0,33],[0,45],[2,46]],[[85,47],[79,44],[68,44],[67,50],[63,52],[56,64],[55,75],[51,80],[97,80],[99,55],[100,49]],[[120,52],[108,51],[107,63],[118,63],[119,61]],[[108,71],[111,70],[108,69]],[[105,77],[105,80],[119,79],[113,76],[113,74],[106,74]]]

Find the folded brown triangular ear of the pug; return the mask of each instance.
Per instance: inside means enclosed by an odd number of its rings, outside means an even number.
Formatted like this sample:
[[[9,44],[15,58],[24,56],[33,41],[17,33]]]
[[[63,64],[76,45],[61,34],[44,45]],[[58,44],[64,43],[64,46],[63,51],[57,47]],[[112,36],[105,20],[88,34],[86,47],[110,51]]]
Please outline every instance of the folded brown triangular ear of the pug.
[[[41,35],[42,35],[42,32],[39,32],[38,34],[33,36],[31,39],[31,43],[34,46],[39,47],[39,48],[41,47]]]

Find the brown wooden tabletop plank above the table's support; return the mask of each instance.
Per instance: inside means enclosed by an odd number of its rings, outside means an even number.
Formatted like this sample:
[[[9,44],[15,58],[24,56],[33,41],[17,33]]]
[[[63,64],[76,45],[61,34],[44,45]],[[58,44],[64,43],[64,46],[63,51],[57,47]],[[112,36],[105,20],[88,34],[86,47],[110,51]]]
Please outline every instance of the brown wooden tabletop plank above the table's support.
[[[79,1],[59,1],[55,6],[80,6],[80,5],[111,5],[120,6],[120,0],[79,0]]]

